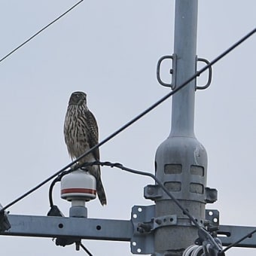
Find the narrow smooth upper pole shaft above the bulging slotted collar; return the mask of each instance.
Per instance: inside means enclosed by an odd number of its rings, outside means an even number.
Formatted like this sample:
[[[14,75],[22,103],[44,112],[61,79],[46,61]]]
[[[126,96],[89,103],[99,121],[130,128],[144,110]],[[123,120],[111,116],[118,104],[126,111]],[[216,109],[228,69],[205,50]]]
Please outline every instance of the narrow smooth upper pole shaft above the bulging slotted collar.
[[[195,73],[197,54],[197,0],[176,0],[174,53],[177,55],[176,84]],[[194,137],[195,81],[172,97],[171,136]]]

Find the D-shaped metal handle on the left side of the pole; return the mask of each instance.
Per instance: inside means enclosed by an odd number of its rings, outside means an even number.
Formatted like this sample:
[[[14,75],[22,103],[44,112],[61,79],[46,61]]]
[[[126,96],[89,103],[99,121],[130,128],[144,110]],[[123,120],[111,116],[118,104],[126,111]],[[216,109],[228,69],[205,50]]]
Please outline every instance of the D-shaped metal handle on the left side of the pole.
[[[163,62],[164,59],[172,59],[172,69],[170,69],[170,71],[169,71],[169,73],[172,75],[172,84],[167,84],[167,83],[163,82],[163,80],[160,77],[160,67],[161,67],[161,63]],[[175,88],[176,63],[177,63],[177,55],[176,54],[172,54],[172,56],[171,55],[162,56],[158,60],[158,62],[157,62],[157,81],[159,84],[163,85],[164,87],[171,87],[172,89]]]

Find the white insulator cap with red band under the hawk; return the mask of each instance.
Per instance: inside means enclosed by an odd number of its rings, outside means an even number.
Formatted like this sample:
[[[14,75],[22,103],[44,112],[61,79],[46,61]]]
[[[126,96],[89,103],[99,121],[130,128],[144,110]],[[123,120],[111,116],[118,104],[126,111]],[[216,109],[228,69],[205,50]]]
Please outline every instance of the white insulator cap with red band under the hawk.
[[[81,169],[63,176],[61,197],[68,201],[89,201],[96,198],[96,178]]]

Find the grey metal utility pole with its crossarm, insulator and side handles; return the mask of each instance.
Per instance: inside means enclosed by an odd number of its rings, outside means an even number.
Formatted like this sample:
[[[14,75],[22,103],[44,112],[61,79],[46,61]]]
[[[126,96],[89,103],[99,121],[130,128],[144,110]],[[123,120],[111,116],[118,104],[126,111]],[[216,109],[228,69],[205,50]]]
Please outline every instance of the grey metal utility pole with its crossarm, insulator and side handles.
[[[164,59],[172,59],[172,84],[165,84],[160,78]],[[174,53],[160,58],[157,79],[175,89],[197,74],[198,61],[208,62],[197,58],[197,0],[176,0]],[[96,197],[95,178],[82,170],[62,172],[56,181],[62,182],[62,198],[72,201],[69,217],[62,216],[52,199],[47,216],[8,215],[0,204],[0,236],[55,237],[56,245],[75,244],[77,250],[81,239],[126,241],[133,254],[152,256],[180,256],[190,245],[196,247],[197,255],[217,255],[221,242],[224,246],[256,248],[256,236],[252,236],[256,227],[219,225],[218,211],[205,209],[206,203],[217,200],[217,190],[206,187],[207,154],[194,136],[194,98],[196,90],[209,86],[211,74],[209,69],[205,86],[198,87],[196,80],[190,81],[173,95],[171,132],[157,148],[156,177],[105,162],[154,178],[156,184],[146,186],[144,195],[155,204],[133,206],[130,220],[87,218],[85,202]],[[185,251],[184,256],[190,252]]]

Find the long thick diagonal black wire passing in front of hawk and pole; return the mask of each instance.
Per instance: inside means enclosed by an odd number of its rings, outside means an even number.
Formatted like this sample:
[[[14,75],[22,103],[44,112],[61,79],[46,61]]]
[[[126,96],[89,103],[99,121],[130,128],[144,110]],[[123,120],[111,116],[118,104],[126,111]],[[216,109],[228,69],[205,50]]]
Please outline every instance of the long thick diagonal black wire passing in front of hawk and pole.
[[[5,211],[6,209],[8,209],[10,206],[13,206],[15,203],[17,203],[18,201],[22,200],[24,197],[28,196],[29,194],[31,194],[32,192],[34,192],[35,190],[37,190],[39,187],[43,186],[44,184],[46,184],[48,181],[50,181],[52,178],[54,178],[56,175],[59,175],[59,173],[65,171],[66,169],[68,169],[69,167],[73,166],[75,163],[77,163],[79,160],[81,160],[82,158],[84,158],[85,156],[87,156],[88,154],[90,154],[91,152],[93,152],[96,148],[101,147],[102,145],[104,145],[106,142],[108,142],[109,140],[113,139],[114,136],[117,136],[117,134],[123,132],[123,130],[126,130],[126,128],[128,128],[129,126],[131,126],[133,123],[135,123],[137,120],[139,120],[140,118],[142,118],[143,116],[145,116],[145,114],[148,114],[150,111],[152,111],[154,108],[156,108],[158,105],[160,105],[161,103],[163,103],[164,101],[166,101],[166,99],[169,99],[170,96],[174,95],[175,93],[178,93],[179,90],[181,90],[183,87],[185,87],[188,83],[190,83],[190,81],[193,81],[195,78],[197,78],[197,76],[200,76],[203,72],[206,71],[206,69],[209,69],[210,66],[215,65],[216,62],[218,62],[220,59],[222,59],[224,56],[226,56],[228,53],[230,53],[232,50],[234,50],[237,46],[239,46],[239,44],[242,44],[242,42],[244,42],[245,40],[247,40],[249,37],[251,37],[251,35],[254,34],[254,32],[256,32],[256,28],[253,29],[251,32],[249,32],[247,35],[245,35],[243,38],[241,38],[239,41],[237,41],[235,44],[233,44],[230,48],[228,48],[227,50],[224,51],[224,53],[221,53],[221,55],[219,55],[217,58],[213,59],[212,62],[209,62],[208,65],[204,66],[203,69],[200,69],[200,71],[196,72],[194,75],[192,75],[189,79],[187,79],[187,81],[184,81],[183,84],[181,84],[179,87],[176,87],[174,90],[172,90],[170,93],[166,94],[166,96],[163,96],[163,98],[159,99],[157,102],[155,102],[153,105],[151,105],[149,108],[147,108],[145,111],[143,111],[141,114],[137,115],[136,117],[134,117],[132,120],[130,120],[130,122],[126,123],[124,126],[120,127],[120,129],[118,129],[117,131],[115,131],[114,133],[112,133],[110,136],[108,136],[107,138],[103,139],[102,142],[99,142],[97,145],[95,145],[93,148],[90,148],[90,150],[86,151],[84,154],[81,154],[80,157],[78,157],[77,159],[75,159],[74,161],[72,161],[71,163],[69,163],[68,165],[64,166],[62,169],[60,169],[58,172],[54,173],[53,175],[51,175],[49,178],[47,178],[46,180],[42,181],[40,184],[38,184],[36,187],[32,188],[31,190],[27,191],[25,194],[23,194],[22,196],[18,197],[16,200],[12,201],[11,203],[9,203],[7,206],[3,207],[0,212]]]

